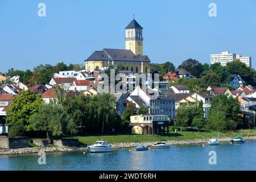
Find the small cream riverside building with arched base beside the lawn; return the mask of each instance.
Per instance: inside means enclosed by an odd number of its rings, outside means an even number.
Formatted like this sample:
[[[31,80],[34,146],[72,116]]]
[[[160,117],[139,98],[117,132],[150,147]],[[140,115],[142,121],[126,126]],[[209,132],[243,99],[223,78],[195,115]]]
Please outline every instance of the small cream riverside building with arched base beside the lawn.
[[[167,134],[169,133],[168,115],[141,114],[130,117],[131,133],[133,134]],[[163,130],[161,129],[163,127]]]

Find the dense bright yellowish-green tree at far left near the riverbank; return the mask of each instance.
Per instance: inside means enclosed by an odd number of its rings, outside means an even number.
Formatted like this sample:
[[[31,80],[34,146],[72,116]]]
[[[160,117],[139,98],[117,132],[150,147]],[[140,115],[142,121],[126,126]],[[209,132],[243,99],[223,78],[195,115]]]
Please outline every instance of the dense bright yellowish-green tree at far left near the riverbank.
[[[31,116],[38,112],[43,103],[40,94],[35,94],[30,90],[21,90],[11,101],[6,122],[11,125],[23,125],[29,130]]]

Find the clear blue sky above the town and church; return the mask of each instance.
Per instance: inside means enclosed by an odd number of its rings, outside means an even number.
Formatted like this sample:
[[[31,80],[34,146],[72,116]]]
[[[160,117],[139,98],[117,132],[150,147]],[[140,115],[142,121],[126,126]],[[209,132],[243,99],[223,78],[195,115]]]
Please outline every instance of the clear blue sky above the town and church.
[[[46,17],[38,4],[46,4]],[[209,17],[209,3],[217,17]],[[256,68],[255,0],[24,0],[0,1],[0,72],[38,64],[83,64],[93,51],[125,48],[135,14],[152,63],[188,58],[209,63],[211,53],[251,56]]]

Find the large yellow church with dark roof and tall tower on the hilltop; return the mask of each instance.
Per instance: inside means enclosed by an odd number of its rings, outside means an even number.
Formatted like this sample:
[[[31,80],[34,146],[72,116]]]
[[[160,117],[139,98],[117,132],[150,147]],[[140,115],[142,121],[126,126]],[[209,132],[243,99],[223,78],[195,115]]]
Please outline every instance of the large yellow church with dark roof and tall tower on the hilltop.
[[[143,55],[143,28],[133,19],[125,28],[125,49],[104,48],[94,51],[85,60],[85,69],[88,71],[102,70],[110,65],[125,66],[126,71],[136,73],[150,73],[150,59]]]

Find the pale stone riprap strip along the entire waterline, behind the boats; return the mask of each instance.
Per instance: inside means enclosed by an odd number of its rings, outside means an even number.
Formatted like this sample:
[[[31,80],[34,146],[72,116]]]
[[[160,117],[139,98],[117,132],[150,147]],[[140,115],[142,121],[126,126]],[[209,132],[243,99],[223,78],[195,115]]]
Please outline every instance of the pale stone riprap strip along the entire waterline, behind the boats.
[[[195,140],[167,140],[166,143],[171,146],[185,145],[185,144],[201,144],[207,143],[210,138],[195,139]],[[243,137],[245,140],[256,140],[256,136]],[[229,142],[229,137],[220,137],[220,142]],[[134,148],[138,145],[152,146],[155,142],[130,142],[130,143],[110,143],[114,149],[120,148]],[[33,154],[39,151],[45,152],[63,152],[63,151],[86,151],[84,146],[63,146],[63,147],[27,147],[15,149],[0,149],[0,155],[17,155],[17,154]]]

